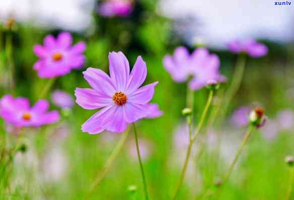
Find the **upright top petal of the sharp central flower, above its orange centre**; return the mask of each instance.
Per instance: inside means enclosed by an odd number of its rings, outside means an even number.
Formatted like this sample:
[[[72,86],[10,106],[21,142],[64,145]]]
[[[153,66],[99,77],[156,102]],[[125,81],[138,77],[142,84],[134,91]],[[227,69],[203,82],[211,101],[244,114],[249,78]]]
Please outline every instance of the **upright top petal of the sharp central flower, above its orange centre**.
[[[109,73],[115,89],[124,91],[127,88],[127,83],[130,76],[129,61],[123,52],[109,53]]]

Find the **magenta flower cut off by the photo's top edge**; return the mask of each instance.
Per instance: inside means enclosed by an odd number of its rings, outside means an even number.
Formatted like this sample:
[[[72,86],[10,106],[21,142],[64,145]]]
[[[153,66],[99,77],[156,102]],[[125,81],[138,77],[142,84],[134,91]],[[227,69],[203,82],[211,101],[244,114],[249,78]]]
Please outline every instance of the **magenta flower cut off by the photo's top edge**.
[[[98,13],[104,17],[127,17],[133,11],[131,0],[108,0],[98,7]]]

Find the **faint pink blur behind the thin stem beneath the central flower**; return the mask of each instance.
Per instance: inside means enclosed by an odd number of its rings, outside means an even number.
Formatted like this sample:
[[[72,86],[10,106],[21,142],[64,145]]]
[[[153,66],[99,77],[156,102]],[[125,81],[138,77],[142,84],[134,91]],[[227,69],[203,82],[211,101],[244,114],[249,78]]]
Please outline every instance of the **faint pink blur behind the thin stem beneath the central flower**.
[[[142,161],[146,161],[151,156],[151,153],[152,153],[151,150],[153,149],[153,145],[151,144],[151,142],[145,139],[139,138],[139,149],[140,149]],[[129,156],[132,160],[135,160],[135,161],[138,160],[137,148],[134,141],[129,142]]]

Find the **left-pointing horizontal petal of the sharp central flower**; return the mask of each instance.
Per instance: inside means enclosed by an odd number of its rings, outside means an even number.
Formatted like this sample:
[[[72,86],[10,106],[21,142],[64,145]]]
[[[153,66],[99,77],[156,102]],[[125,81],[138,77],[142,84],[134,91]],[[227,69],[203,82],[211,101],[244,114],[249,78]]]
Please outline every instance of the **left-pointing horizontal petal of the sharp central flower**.
[[[76,102],[85,109],[97,109],[113,104],[111,97],[93,89],[76,88],[75,96]]]

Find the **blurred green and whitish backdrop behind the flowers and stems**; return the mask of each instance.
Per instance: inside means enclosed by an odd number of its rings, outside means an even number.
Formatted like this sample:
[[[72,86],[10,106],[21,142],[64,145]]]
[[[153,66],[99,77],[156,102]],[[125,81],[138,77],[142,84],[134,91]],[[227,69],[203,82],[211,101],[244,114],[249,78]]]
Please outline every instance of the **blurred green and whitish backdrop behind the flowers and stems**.
[[[191,52],[205,46],[219,55],[227,84],[221,85],[215,103],[229,85],[236,64],[237,55],[225,44],[234,39],[257,39],[269,52],[247,59],[241,88],[225,118],[217,119],[223,122],[209,128],[209,137],[202,140],[207,148],[200,158],[200,143],[194,146],[179,199],[201,199],[215,178],[225,173],[245,131],[236,124],[233,113],[241,106],[254,105],[265,108],[268,123],[254,132],[220,199],[283,199],[289,182],[284,157],[294,154],[294,5],[277,7],[269,0],[134,0],[128,15],[107,17],[99,12],[101,4],[103,1],[93,0],[0,1],[0,97],[12,94],[27,97],[31,103],[38,100],[48,80],[33,71],[37,60],[33,46],[42,43],[47,34],[68,31],[74,43],[86,42],[84,67],[59,77],[52,86],[52,91],[63,90],[73,98],[76,87],[88,87],[82,76],[86,68],[108,72],[108,52],[123,51],[131,66],[142,55],[148,70],[145,83],[159,81],[152,102],[159,104],[164,115],[137,122],[139,143],[150,198],[170,199],[187,148],[181,115],[186,85],[172,81],[163,68],[164,55],[180,45]],[[195,93],[195,124],[207,94],[206,89]],[[47,99],[51,101],[50,94]],[[53,104],[51,108],[59,109]],[[81,132],[81,124],[93,110],[75,104],[72,110],[60,112],[63,118],[57,124],[27,131],[26,151],[17,155],[10,181],[2,177],[1,187],[9,184],[9,189],[1,190],[1,199],[85,198],[120,135]],[[12,146],[13,132],[0,119],[1,137],[8,138]],[[124,148],[89,199],[143,199],[134,147],[131,129]],[[135,194],[128,189],[131,185],[137,187]]]

